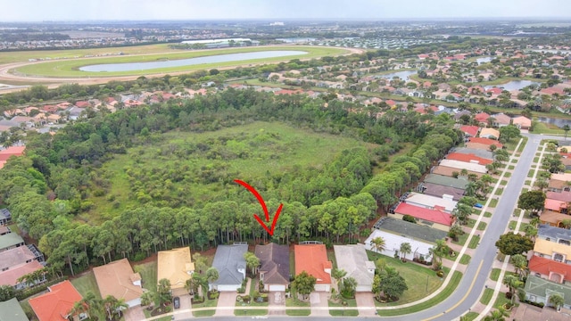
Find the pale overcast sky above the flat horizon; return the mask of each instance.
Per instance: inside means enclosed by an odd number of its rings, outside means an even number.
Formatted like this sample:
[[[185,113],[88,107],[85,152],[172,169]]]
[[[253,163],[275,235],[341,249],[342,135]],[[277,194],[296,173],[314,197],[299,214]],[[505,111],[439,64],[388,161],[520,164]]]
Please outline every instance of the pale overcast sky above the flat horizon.
[[[0,21],[570,18],[571,0],[0,0]]]

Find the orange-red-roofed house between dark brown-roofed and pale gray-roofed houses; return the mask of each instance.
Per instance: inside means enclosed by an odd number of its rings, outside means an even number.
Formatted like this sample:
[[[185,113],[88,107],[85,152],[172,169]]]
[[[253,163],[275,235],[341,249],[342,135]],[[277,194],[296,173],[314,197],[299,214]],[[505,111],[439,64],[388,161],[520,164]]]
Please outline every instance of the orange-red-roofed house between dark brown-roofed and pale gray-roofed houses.
[[[303,271],[317,279],[315,291],[331,291],[331,268],[330,260],[327,259],[327,251],[324,244],[296,244],[294,245],[295,273]]]

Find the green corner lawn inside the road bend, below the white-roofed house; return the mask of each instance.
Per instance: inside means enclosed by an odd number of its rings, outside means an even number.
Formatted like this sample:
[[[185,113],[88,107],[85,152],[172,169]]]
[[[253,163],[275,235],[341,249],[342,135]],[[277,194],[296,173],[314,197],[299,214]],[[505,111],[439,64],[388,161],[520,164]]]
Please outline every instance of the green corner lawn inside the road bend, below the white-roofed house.
[[[396,268],[397,271],[404,277],[404,280],[409,287],[409,290],[405,291],[401,299],[396,302],[391,303],[378,303],[378,306],[395,306],[415,300],[420,300],[426,295],[434,292],[443,283],[443,280],[436,276],[436,272],[431,268],[424,268],[412,262],[402,263],[401,259],[394,259],[375,253],[373,251],[367,251],[368,259],[376,261],[377,259],[383,259],[385,264]],[[448,273],[448,270],[445,269]]]

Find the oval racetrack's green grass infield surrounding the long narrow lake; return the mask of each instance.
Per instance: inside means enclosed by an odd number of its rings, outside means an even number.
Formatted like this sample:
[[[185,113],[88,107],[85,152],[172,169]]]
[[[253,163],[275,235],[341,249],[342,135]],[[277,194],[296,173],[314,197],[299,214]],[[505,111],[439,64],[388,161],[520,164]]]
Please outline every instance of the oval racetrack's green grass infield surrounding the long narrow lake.
[[[109,49],[112,52],[121,51],[122,48]],[[209,70],[209,69],[219,69],[225,67],[232,67],[238,65],[247,65],[252,63],[261,62],[286,62],[293,59],[311,59],[319,58],[327,55],[339,55],[344,53],[349,53],[345,49],[330,48],[330,47],[318,47],[318,46],[256,46],[256,47],[241,47],[241,48],[226,48],[226,49],[211,49],[203,51],[181,51],[172,50],[164,48],[165,51],[161,52],[157,48],[150,46],[149,52],[133,53],[133,54],[123,54],[123,55],[111,55],[106,57],[94,57],[94,58],[77,58],[77,59],[60,59],[52,60],[48,62],[30,63],[25,66],[16,68],[14,72],[19,75],[26,76],[44,76],[52,78],[89,78],[89,77],[117,77],[117,76],[133,76],[133,75],[149,75],[157,73],[174,73],[179,71],[192,71],[192,70]],[[95,64],[106,64],[106,63],[128,63],[128,62],[160,62],[160,61],[173,61],[187,58],[205,57],[219,54],[228,53],[252,53],[252,52],[262,52],[262,51],[304,51],[305,54],[296,54],[282,57],[274,58],[263,58],[263,59],[252,59],[238,62],[212,62],[212,63],[202,63],[189,66],[180,67],[170,67],[170,68],[159,68],[153,70],[137,70],[137,71],[113,71],[113,72],[87,72],[79,70],[82,66],[95,65]],[[75,57],[71,53],[66,53],[68,57]]]

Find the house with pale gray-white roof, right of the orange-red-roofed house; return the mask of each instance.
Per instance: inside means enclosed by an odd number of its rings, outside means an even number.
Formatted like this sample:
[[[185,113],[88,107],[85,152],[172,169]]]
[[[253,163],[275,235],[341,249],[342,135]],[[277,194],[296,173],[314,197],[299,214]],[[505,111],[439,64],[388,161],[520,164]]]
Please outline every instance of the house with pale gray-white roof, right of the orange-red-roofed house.
[[[378,230],[377,230],[378,231]],[[352,277],[357,281],[357,292],[371,292],[373,276],[375,276],[375,263],[367,258],[367,251],[363,244],[333,245],[337,268],[347,272],[345,277]]]

